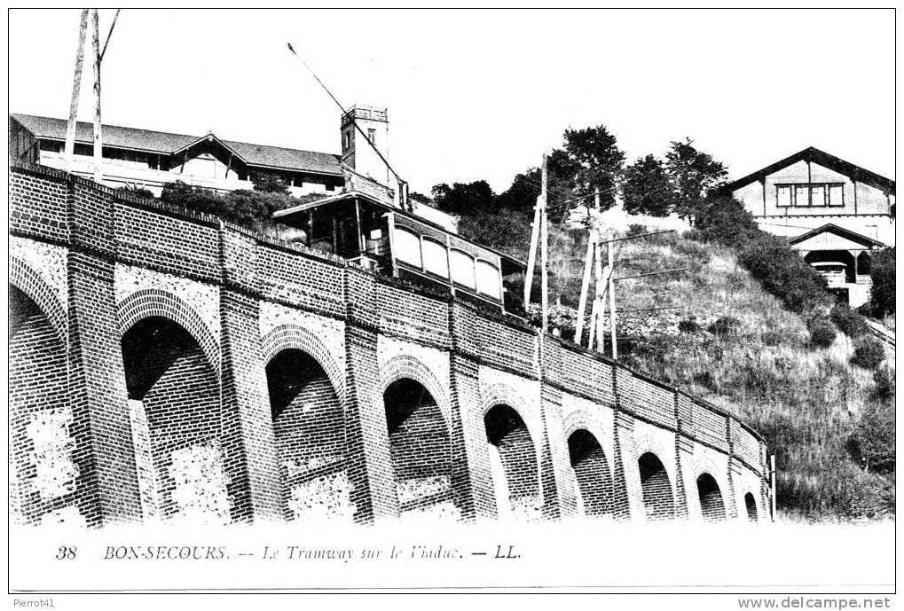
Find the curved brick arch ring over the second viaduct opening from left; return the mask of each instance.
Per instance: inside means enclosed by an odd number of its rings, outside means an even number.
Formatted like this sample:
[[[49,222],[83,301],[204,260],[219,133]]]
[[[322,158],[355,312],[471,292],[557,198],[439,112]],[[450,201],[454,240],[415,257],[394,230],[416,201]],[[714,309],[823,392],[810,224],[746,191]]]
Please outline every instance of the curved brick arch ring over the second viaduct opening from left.
[[[120,336],[145,318],[157,316],[181,326],[201,346],[214,371],[220,373],[220,343],[201,315],[184,299],[158,288],[137,290],[118,305]]]

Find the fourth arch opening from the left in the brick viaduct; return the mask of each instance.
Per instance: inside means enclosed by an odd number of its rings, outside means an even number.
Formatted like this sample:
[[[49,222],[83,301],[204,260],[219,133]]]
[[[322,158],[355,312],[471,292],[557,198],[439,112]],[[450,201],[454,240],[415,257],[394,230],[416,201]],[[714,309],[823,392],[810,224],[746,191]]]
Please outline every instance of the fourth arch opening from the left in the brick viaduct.
[[[448,428],[437,401],[419,381],[401,378],[383,391],[383,407],[402,516],[457,520]]]

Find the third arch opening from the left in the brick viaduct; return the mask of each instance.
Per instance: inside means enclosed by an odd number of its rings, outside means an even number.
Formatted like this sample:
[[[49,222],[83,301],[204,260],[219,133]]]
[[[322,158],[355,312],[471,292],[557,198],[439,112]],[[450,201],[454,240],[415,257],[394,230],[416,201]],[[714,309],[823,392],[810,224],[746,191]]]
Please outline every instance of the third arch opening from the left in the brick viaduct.
[[[287,519],[351,522],[344,411],[332,382],[297,349],[277,353],[266,371]]]

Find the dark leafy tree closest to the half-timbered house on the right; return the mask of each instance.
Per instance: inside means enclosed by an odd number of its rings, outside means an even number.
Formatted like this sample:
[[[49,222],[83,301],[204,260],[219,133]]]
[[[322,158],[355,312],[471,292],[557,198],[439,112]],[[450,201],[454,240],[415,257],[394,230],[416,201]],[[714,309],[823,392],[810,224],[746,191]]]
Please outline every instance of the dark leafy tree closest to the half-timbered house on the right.
[[[675,211],[685,219],[696,217],[703,198],[728,176],[725,165],[697,150],[691,138],[672,143],[665,154],[665,170],[677,198]]]

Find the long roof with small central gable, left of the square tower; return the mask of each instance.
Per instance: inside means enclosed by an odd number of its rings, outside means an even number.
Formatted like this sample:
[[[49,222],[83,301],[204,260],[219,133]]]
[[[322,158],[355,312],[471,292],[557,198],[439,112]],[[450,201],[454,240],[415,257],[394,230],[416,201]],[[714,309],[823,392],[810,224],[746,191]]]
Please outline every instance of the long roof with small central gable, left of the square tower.
[[[11,114],[11,118],[30,131],[35,137],[48,140],[66,139],[66,120],[61,118],[35,117],[33,115]],[[248,165],[267,167],[312,174],[333,174],[342,176],[339,156],[330,153],[303,151],[282,146],[255,145],[248,142],[222,140],[213,134],[189,136],[172,134],[136,127],[104,125],[104,146],[127,148],[159,155],[173,155],[202,142],[212,136],[222,146],[238,155]],[[79,121],[76,125],[75,141],[80,144],[94,142],[93,126]]]

